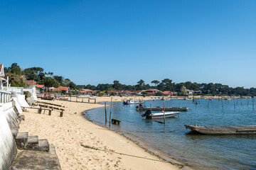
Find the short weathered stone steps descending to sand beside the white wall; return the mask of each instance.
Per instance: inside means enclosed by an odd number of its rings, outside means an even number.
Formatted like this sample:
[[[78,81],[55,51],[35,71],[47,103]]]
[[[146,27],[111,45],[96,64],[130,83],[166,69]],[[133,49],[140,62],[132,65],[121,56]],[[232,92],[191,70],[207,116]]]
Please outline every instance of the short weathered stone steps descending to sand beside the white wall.
[[[18,149],[48,152],[48,140],[38,140],[38,136],[28,136],[28,132],[18,132],[15,137]]]

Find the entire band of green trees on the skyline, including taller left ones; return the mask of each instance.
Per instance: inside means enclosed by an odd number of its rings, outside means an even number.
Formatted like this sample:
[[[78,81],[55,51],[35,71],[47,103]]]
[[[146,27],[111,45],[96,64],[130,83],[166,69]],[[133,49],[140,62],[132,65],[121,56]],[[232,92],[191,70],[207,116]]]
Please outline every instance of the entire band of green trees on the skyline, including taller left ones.
[[[38,81],[38,84],[45,84],[46,86],[68,86],[70,89],[90,89],[95,91],[140,91],[159,89],[160,91],[180,92],[181,87],[185,86],[186,89],[196,91],[197,94],[203,95],[256,96],[255,88],[232,88],[223,84],[198,84],[192,83],[191,81],[176,84],[171,79],[163,79],[161,81],[153,80],[151,81],[153,86],[145,84],[145,81],[142,79],[139,80],[136,85],[121,84],[117,80],[114,80],[113,84],[98,84],[97,86],[90,84],[76,85],[73,81],[70,81],[70,79],[64,79],[63,76],[53,75],[53,72],[44,72],[44,69],[41,67],[21,69],[17,63],[11,64],[11,67],[4,67],[4,71],[11,77],[10,81],[14,86],[26,86],[23,81],[18,79],[21,75],[24,75],[28,80]]]

